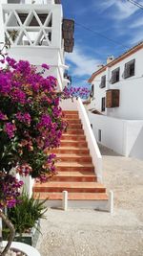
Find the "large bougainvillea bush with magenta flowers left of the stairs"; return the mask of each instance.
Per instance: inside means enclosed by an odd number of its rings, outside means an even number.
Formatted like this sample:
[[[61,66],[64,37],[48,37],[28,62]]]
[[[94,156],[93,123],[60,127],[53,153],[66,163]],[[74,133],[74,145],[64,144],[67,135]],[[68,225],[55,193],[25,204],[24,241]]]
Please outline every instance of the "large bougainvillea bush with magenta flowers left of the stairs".
[[[42,76],[28,61],[2,59],[0,69],[0,208],[12,207],[22,182],[10,175],[46,180],[54,174],[54,158],[45,149],[59,146],[66,123],[62,120],[56,79]]]

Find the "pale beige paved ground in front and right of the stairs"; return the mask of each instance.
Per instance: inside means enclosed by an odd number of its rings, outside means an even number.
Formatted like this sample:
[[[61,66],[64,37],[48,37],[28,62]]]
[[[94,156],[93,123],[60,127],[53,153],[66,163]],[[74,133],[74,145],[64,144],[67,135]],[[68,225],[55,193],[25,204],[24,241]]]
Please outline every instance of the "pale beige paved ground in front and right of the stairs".
[[[41,256],[143,256],[143,161],[100,148],[113,215],[50,209],[37,244]]]

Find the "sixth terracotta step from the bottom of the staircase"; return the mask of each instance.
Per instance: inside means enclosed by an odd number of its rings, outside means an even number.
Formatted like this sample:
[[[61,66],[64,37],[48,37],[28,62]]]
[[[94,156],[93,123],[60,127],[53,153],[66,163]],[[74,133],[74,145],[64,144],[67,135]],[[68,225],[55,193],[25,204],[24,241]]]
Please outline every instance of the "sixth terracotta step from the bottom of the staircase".
[[[51,150],[53,153],[75,153],[75,154],[88,154],[90,151],[88,148],[75,148],[75,147],[60,147],[58,149]]]

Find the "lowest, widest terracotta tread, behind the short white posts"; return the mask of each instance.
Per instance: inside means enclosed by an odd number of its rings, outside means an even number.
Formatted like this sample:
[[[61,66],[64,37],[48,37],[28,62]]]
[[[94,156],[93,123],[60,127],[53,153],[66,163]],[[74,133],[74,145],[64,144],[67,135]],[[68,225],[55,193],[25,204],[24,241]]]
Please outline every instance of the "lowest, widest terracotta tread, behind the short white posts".
[[[62,200],[62,193],[34,193],[34,198],[49,200]],[[108,200],[106,193],[69,193],[68,198],[70,200]]]

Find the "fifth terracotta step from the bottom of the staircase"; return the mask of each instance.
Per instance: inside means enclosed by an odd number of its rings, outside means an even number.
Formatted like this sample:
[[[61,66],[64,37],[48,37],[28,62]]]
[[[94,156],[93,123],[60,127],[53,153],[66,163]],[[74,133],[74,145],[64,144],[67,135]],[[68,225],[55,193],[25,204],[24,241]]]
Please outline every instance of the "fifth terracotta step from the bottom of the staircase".
[[[56,159],[61,162],[92,163],[92,157],[89,154],[78,155],[75,153],[58,153],[56,154]]]

